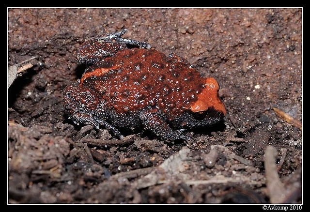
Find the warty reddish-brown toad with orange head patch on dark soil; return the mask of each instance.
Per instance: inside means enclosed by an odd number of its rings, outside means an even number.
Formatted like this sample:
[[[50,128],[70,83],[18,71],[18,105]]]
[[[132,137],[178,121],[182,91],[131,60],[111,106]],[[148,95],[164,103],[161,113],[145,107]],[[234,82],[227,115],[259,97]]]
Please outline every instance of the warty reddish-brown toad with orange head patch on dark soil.
[[[74,123],[122,131],[149,130],[162,140],[187,140],[184,131],[214,124],[226,114],[217,81],[202,77],[181,56],[168,57],[145,42],[122,38],[126,29],[85,41],[76,51],[88,64],[63,90]]]

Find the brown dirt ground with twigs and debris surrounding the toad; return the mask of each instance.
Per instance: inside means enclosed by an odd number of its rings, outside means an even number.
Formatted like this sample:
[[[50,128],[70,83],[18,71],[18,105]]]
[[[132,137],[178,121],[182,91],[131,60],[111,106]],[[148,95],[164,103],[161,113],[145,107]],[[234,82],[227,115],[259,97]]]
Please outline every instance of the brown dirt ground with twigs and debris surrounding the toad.
[[[63,114],[87,38],[128,29],[216,78],[227,115],[165,142]],[[302,8],[8,8],[8,204],[303,203]]]

